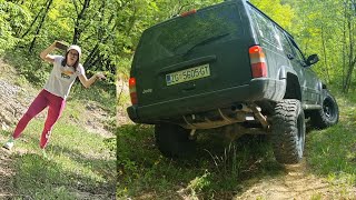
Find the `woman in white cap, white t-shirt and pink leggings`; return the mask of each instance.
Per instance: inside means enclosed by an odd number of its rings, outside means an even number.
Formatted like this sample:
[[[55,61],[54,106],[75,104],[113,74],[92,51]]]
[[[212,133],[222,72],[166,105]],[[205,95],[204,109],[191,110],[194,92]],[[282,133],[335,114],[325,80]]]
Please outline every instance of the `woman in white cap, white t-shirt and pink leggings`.
[[[86,77],[85,69],[79,63],[81,56],[79,46],[69,46],[65,57],[49,54],[55,49],[62,47],[62,43],[55,41],[40,53],[42,60],[53,63],[52,71],[42,91],[37,96],[27,112],[20,119],[12,137],[3,144],[3,148],[11,150],[14,140],[20,137],[28,122],[48,107],[47,119],[40,139],[40,148],[46,156],[44,148],[48,143],[52,127],[65,109],[66,99],[76,78],[79,77],[80,82],[86,88],[89,88],[98,79],[105,79],[102,73],[96,73],[90,79]]]

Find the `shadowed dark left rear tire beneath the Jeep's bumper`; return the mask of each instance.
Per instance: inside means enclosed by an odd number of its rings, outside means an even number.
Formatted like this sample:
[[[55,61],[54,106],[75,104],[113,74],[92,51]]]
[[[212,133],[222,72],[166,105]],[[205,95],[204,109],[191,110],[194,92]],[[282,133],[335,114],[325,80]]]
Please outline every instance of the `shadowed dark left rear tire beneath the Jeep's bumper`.
[[[189,132],[190,130],[176,124],[156,124],[156,144],[165,157],[186,157],[195,150],[195,141],[189,139]]]

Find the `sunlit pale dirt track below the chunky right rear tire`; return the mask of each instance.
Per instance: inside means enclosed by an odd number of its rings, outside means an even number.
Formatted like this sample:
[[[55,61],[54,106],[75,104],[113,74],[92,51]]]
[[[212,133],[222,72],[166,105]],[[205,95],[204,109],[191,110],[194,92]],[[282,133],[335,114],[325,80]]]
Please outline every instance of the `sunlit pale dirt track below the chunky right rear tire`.
[[[356,189],[333,186],[326,179],[308,172],[306,162],[286,167],[286,174],[264,178],[246,186],[234,199],[355,199]]]

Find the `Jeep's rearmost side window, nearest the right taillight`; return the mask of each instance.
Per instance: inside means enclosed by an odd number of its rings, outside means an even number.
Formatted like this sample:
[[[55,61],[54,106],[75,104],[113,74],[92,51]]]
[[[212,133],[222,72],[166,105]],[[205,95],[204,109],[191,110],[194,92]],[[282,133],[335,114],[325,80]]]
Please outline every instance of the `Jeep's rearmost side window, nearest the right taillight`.
[[[250,13],[254,22],[254,28],[257,31],[258,37],[265,42],[280,48],[274,23],[253,8],[250,8]]]

